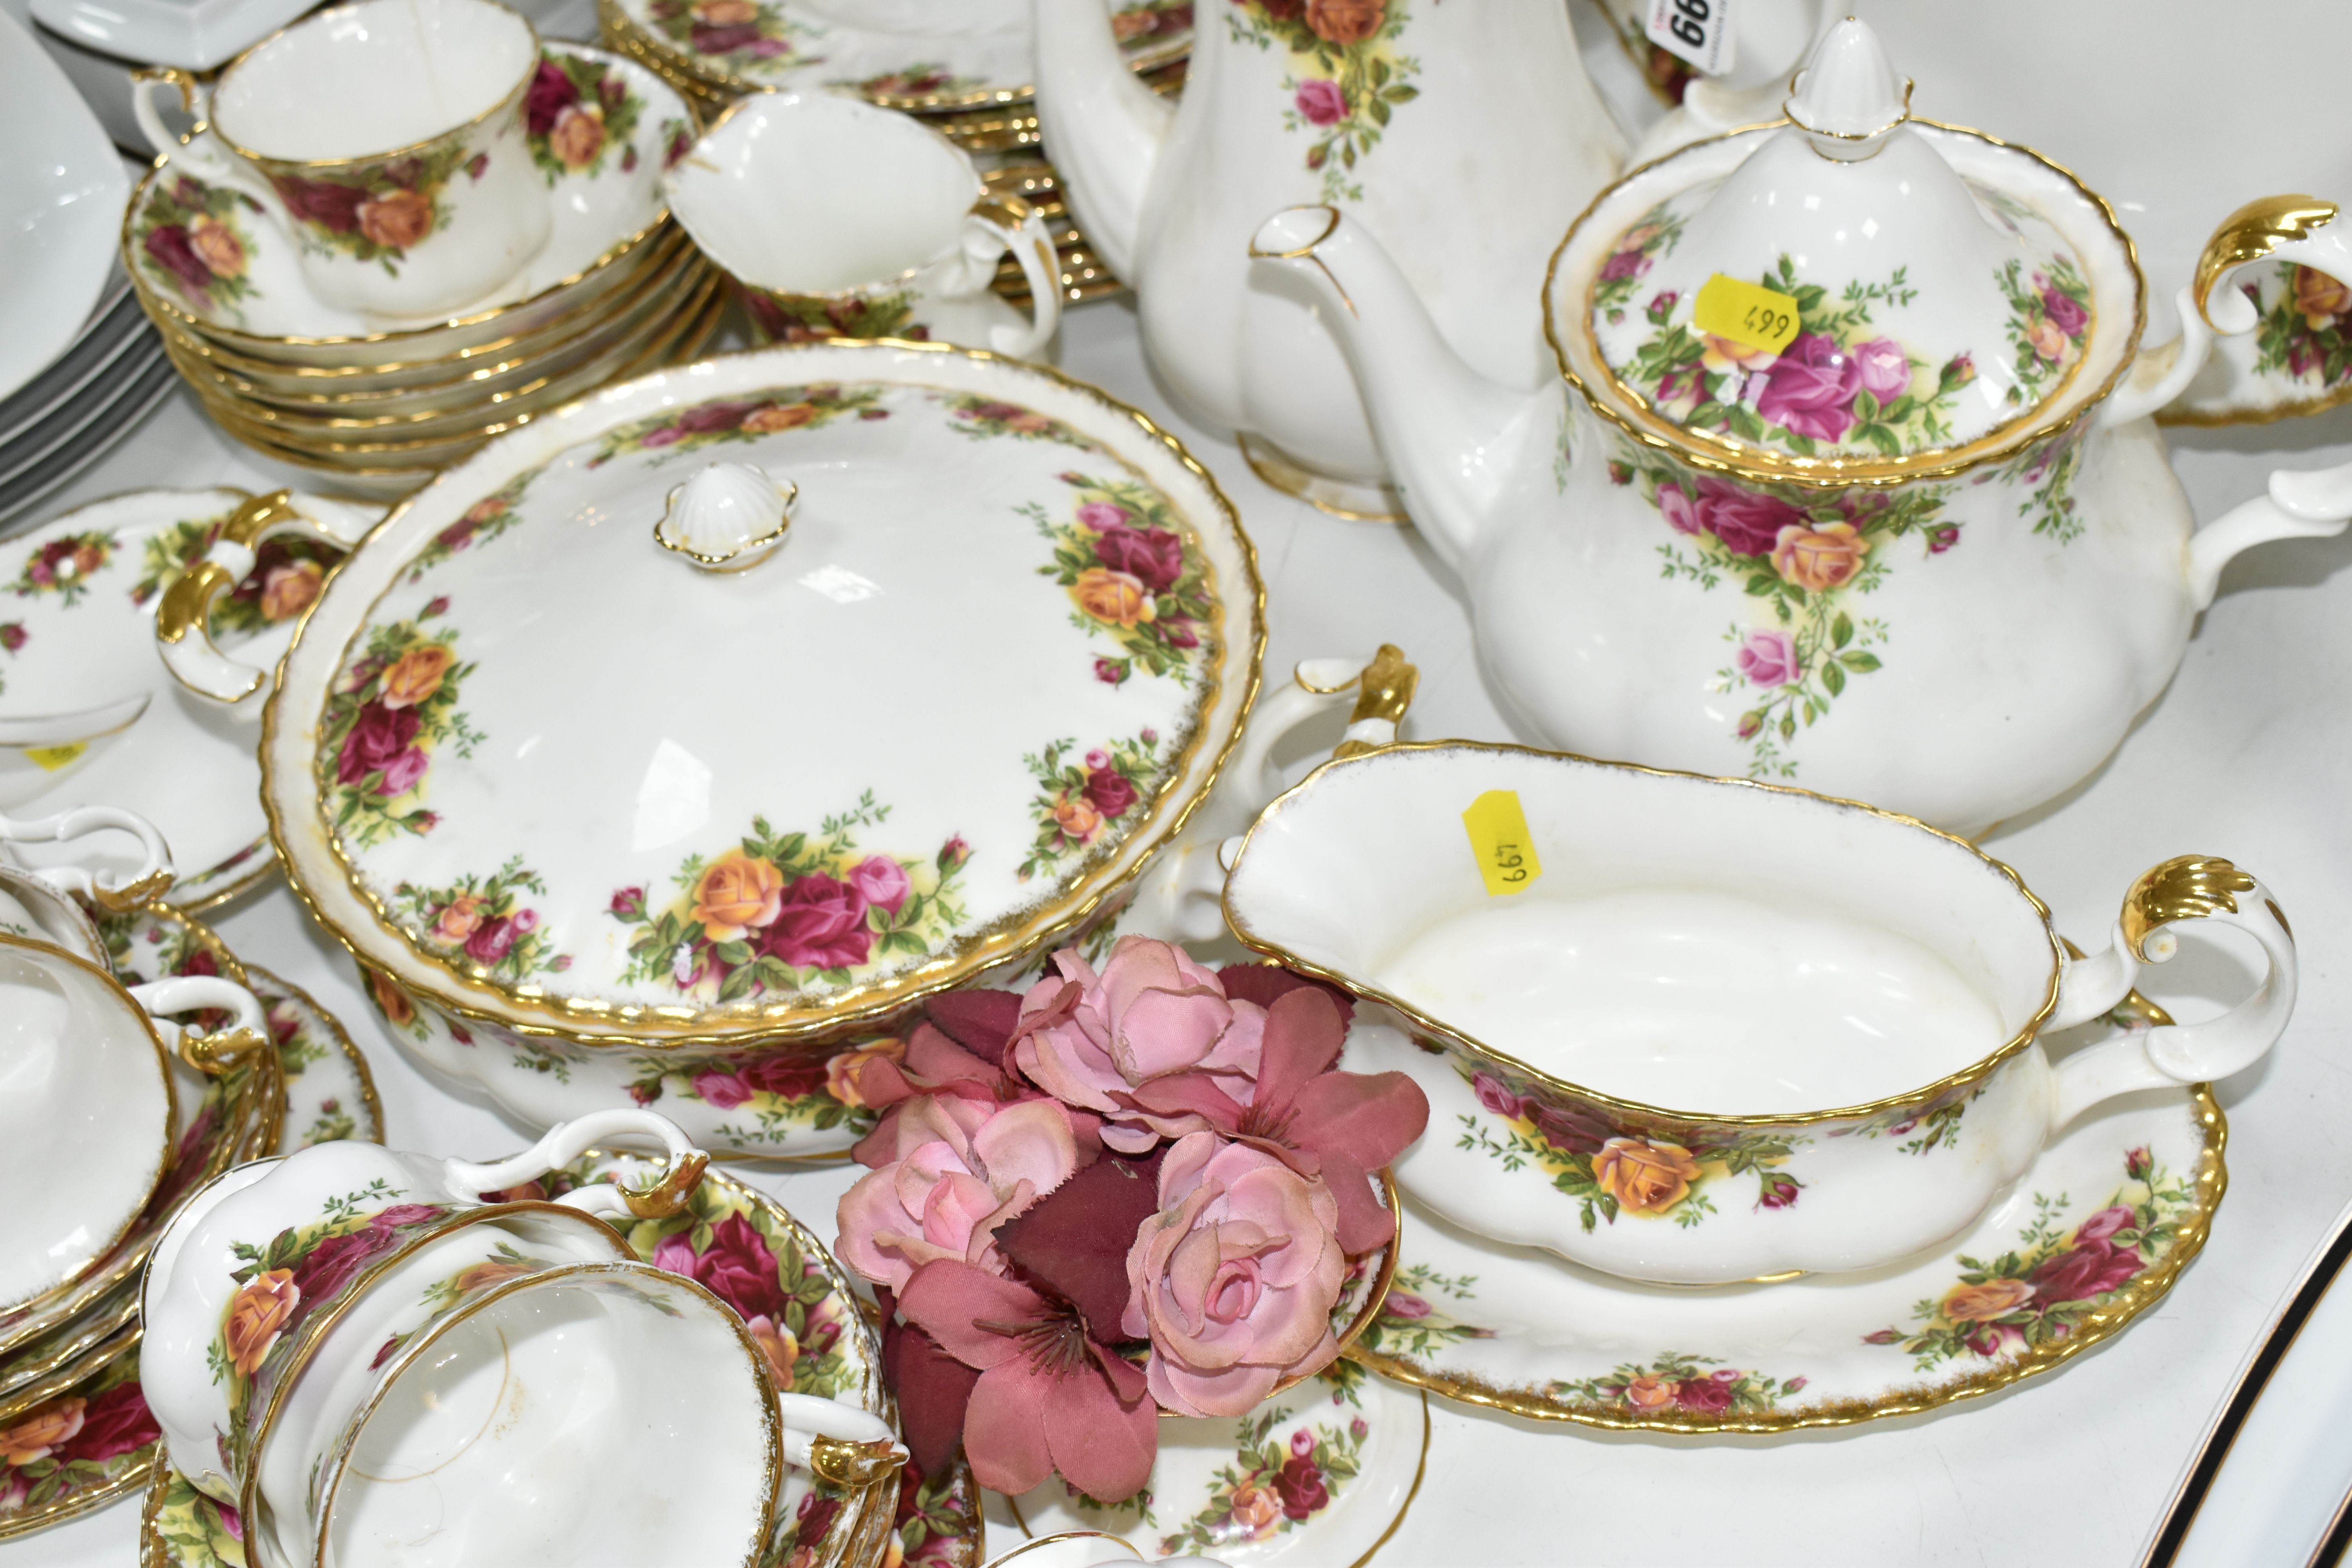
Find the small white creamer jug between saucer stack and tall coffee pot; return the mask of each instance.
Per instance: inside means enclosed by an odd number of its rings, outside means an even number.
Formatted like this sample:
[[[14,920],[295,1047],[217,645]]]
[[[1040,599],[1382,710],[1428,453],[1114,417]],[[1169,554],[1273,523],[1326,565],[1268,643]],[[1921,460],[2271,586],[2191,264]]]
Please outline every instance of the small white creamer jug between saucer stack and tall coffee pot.
[[[971,158],[908,115],[753,94],[663,188],[769,341],[929,339],[1035,357],[1061,327],[1044,219],[1021,197],[988,195]],[[990,289],[1004,252],[1028,277],[1028,322]]]

